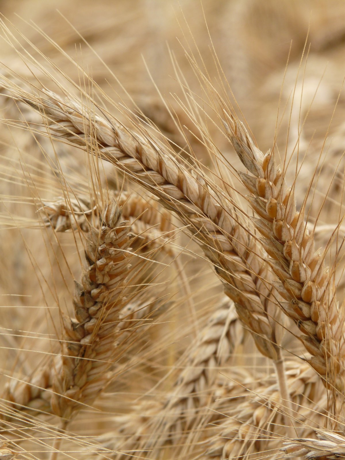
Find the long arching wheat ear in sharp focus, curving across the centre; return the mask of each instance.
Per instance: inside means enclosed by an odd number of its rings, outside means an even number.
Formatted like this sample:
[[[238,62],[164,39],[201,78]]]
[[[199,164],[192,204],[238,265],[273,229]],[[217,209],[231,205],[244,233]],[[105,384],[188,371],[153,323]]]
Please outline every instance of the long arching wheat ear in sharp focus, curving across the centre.
[[[214,264],[242,321],[266,357],[281,360],[281,331],[267,313],[270,272],[260,259],[256,242],[242,229],[230,199],[221,196],[201,172],[193,173],[153,139],[139,136],[115,121],[89,113],[80,103],[52,92],[40,99],[19,88],[20,98],[44,117],[53,136],[68,139],[85,150],[96,147],[134,180],[147,187],[189,226],[196,241]],[[111,121],[109,121],[111,120]],[[271,309],[273,312],[276,309]],[[278,332],[279,331],[279,332]]]

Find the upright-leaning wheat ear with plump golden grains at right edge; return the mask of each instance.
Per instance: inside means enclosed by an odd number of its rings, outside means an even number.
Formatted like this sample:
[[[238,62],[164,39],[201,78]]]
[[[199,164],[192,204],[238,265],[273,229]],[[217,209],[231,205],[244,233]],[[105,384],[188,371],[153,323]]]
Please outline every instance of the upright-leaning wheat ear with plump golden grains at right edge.
[[[325,254],[315,252],[304,213],[296,211],[294,187],[288,188],[274,152],[255,147],[243,124],[224,111],[224,126],[237,155],[250,174],[239,173],[252,193],[248,198],[259,219],[254,225],[280,279],[274,286],[288,302],[283,311],[294,320],[311,366],[337,390],[345,392],[344,309],[339,311],[335,288],[324,267]]]

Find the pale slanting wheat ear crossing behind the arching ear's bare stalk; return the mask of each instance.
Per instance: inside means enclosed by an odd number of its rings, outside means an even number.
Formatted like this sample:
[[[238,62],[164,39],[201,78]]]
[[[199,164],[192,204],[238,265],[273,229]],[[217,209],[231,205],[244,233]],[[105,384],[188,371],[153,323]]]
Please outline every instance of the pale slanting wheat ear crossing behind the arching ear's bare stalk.
[[[309,434],[313,420],[319,426],[322,410],[323,414],[327,413],[327,395],[323,393],[321,399],[318,397],[322,387],[321,379],[309,366],[301,366],[299,361],[287,363],[286,367],[295,423],[308,420]],[[313,398],[316,400],[314,404]],[[218,406],[214,407],[227,417],[215,422],[219,425],[219,431],[208,439],[207,449],[200,457],[202,460],[231,459],[265,452],[266,449],[270,452],[273,449],[279,450],[279,437],[286,437],[287,426],[282,423],[284,416],[276,383],[256,387],[252,395],[250,392],[245,393],[241,399],[233,405],[225,395],[224,401],[219,401]],[[307,410],[305,406],[310,409]],[[303,410],[301,415],[300,409]]]

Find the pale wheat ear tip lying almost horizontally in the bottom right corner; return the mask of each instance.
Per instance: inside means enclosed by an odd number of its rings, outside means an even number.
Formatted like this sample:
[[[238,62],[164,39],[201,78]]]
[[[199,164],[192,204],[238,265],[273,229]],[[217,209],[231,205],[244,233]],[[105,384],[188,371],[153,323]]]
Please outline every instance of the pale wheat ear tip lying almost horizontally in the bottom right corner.
[[[294,439],[280,449],[287,457],[305,457],[308,460],[345,458],[345,437],[331,431],[316,431],[317,439]]]

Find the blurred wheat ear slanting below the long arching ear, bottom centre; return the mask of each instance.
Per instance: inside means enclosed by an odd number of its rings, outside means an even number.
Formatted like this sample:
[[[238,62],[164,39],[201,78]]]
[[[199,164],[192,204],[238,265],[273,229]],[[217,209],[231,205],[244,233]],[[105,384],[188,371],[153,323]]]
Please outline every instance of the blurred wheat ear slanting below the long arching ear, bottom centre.
[[[243,339],[235,304],[225,297],[186,351],[183,370],[152,427],[153,433],[159,433],[156,445],[168,439],[174,445],[180,443],[181,436],[194,425],[198,413],[209,402],[220,366],[231,363],[231,356]]]

